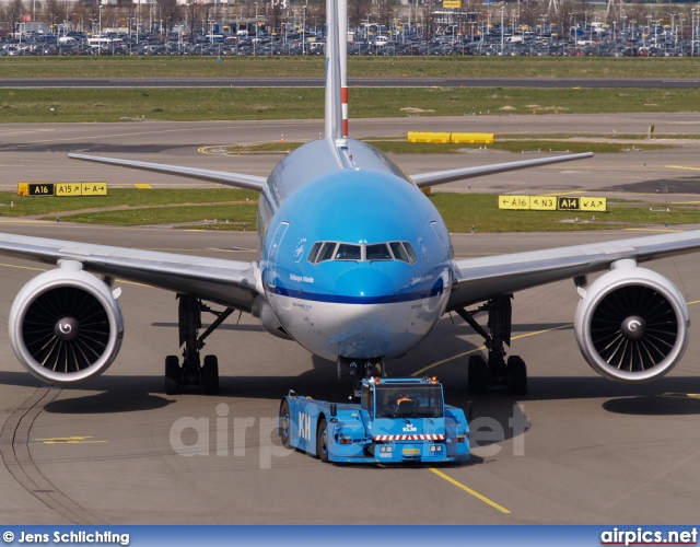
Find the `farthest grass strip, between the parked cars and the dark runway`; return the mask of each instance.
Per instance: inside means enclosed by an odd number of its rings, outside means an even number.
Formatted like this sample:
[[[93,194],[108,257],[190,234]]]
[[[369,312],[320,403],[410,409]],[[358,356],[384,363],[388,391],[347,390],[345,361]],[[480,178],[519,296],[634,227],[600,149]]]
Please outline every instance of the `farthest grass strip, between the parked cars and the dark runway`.
[[[323,57],[5,57],[3,78],[323,77]],[[700,78],[691,58],[350,57],[350,78]]]

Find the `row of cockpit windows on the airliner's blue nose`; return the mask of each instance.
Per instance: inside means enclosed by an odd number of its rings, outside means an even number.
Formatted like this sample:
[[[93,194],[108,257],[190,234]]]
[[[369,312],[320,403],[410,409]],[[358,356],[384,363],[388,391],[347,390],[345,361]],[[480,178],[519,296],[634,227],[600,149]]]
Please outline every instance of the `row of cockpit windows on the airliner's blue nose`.
[[[407,241],[388,243],[373,243],[361,245],[338,242],[316,242],[308,252],[307,260],[318,264],[326,260],[400,260],[413,264],[418,260],[416,252]]]

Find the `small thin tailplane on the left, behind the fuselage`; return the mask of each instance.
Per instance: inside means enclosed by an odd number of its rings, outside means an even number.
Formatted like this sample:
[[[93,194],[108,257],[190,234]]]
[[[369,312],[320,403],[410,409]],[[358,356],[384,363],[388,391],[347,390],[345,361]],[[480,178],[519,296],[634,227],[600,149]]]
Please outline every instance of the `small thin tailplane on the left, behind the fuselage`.
[[[68,154],[72,160],[83,160],[86,162],[104,163],[107,165],[118,165],[120,167],[130,167],[139,171],[151,171],[154,173],[163,173],[166,175],[184,176],[198,181],[207,181],[210,183],[234,186],[236,188],[245,188],[248,190],[260,191],[265,185],[266,177],[256,175],[246,175],[244,173],[228,173],[225,171],[202,170],[196,167],[184,167],[178,165],[164,165],[162,163],[137,162],[133,160],[118,160],[115,158],[101,158],[97,155]]]

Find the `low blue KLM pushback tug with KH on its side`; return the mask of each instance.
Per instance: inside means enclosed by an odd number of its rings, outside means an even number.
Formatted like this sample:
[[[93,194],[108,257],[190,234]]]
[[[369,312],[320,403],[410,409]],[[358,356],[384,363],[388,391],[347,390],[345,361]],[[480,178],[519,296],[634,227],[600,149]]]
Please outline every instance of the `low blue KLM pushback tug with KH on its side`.
[[[287,447],[322,462],[464,462],[469,424],[444,404],[435,379],[364,379],[360,404],[328,403],[290,392],[280,405]]]

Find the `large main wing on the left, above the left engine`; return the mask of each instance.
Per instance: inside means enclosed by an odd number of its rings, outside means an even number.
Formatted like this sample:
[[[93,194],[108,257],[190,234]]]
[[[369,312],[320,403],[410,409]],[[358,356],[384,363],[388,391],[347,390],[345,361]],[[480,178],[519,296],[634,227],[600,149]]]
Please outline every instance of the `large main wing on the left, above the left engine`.
[[[256,296],[252,263],[0,234],[0,255],[57,265],[75,260],[92,274],[138,281],[249,312]]]

